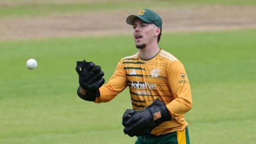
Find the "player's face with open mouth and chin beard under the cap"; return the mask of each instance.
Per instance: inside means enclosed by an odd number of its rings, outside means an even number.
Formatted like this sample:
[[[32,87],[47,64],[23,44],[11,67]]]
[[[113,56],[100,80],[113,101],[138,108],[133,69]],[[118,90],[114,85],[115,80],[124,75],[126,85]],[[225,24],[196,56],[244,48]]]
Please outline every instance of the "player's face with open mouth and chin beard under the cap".
[[[133,36],[138,49],[143,49],[148,44],[154,42],[156,28],[152,23],[145,23],[140,19],[134,20]]]

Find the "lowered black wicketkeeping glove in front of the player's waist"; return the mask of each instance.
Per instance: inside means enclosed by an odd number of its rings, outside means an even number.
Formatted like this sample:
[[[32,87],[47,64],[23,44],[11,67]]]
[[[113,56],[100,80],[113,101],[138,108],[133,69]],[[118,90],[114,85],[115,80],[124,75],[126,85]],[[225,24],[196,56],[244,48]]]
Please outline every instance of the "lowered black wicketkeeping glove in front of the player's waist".
[[[161,118],[154,120],[154,114],[161,113]],[[171,120],[169,110],[165,104],[156,99],[143,110],[127,109],[123,115],[124,133],[130,137],[149,134],[154,127]]]

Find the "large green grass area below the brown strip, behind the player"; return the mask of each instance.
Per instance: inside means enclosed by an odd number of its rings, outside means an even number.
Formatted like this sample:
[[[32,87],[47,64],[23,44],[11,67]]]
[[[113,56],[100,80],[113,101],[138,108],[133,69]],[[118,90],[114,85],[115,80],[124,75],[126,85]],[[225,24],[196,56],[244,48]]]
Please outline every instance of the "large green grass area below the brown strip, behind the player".
[[[190,80],[191,143],[254,143],[256,29],[163,34],[159,45]],[[108,79],[135,52],[132,36],[0,42],[0,143],[133,143],[121,124],[129,92],[108,103],[83,101],[75,65],[94,61]],[[26,68],[29,58],[36,69]]]

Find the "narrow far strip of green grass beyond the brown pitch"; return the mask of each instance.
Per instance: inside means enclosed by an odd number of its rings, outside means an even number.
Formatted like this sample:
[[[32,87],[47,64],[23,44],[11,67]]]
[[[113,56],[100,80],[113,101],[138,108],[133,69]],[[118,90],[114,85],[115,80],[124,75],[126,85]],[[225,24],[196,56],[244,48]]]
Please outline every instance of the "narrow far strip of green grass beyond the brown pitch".
[[[26,2],[26,1],[25,1]],[[191,5],[256,5],[254,0],[182,0],[182,1],[95,1],[95,2],[73,2],[73,3],[50,3],[49,1],[40,3],[22,3],[19,4],[5,4],[0,3],[0,18],[6,17],[36,17],[45,16],[49,14],[63,14],[63,13],[81,13],[86,11],[103,11],[115,9],[145,9],[149,7],[154,8],[169,8],[177,6],[191,6]],[[7,3],[7,2],[5,2]]]

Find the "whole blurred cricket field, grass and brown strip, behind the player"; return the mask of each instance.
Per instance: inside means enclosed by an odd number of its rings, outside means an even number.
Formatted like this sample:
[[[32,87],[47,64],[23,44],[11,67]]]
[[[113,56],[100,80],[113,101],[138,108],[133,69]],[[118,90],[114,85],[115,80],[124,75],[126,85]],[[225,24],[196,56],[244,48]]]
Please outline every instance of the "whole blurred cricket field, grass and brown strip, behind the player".
[[[75,66],[93,61],[108,79],[137,52],[125,20],[141,9],[162,17],[159,47],[187,71],[190,142],[255,143],[253,0],[0,0],[0,143],[134,143],[122,126],[129,90],[108,103],[83,101]]]

